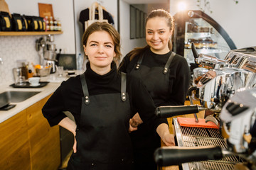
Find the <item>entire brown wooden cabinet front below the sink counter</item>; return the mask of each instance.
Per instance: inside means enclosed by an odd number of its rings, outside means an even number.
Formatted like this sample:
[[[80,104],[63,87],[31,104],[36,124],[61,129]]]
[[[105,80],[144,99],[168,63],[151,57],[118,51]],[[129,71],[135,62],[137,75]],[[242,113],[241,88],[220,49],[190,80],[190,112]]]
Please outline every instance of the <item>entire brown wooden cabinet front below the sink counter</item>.
[[[41,112],[49,97],[0,124],[1,169],[58,169],[59,127],[50,128]]]

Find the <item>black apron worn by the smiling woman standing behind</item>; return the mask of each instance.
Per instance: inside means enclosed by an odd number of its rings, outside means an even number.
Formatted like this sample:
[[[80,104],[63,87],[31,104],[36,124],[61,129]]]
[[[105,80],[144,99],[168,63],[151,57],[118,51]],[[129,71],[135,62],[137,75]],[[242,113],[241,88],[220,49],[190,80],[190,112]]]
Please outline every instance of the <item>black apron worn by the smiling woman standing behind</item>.
[[[175,52],[171,52],[164,67],[151,68],[142,65],[144,55],[141,55],[130,72],[135,77],[142,79],[156,106],[161,106],[161,103],[166,102],[169,98],[169,66],[175,55]],[[153,155],[155,149],[161,147],[159,135],[154,129],[149,129],[149,125],[142,123],[138,130],[132,132],[130,136],[134,150],[134,169],[156,169]]]

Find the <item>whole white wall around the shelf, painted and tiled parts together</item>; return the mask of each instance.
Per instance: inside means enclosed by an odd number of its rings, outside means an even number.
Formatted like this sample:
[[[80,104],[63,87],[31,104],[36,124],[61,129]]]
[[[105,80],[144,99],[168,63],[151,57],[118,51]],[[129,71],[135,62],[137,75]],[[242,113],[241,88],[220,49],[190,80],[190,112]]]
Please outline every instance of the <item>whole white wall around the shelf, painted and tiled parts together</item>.
[[[75,53],[75,32],[72,0],[6,0],[10,13],[39,16],[38,2],[53,5],[53,15],[60,18],[63,34],[54,35],[55,44],[66,53]],[[0,65],[0,86],[14,82],[12,69],[17,67],[16,60],[39,63],[36,52],[36,40],[46,35],[0,36],[0,57],[4,64]]]

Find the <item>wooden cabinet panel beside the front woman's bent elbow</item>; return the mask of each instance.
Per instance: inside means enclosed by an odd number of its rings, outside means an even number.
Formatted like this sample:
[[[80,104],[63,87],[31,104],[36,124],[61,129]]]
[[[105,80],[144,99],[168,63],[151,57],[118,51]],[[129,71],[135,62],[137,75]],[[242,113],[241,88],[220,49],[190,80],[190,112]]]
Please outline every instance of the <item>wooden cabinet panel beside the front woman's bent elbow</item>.
[[[60,165],[59,127],[50,128],[41,112],[48,98],[49,96],[26,109],[32,169],[58,169]]]

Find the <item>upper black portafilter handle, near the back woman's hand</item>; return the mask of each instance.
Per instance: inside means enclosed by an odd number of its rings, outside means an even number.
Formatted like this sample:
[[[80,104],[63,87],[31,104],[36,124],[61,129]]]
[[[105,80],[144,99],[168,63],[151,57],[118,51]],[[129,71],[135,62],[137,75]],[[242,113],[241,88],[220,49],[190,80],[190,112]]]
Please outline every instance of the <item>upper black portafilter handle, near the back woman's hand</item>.
[[[198,113],[199,111],[205,111],[207,108],[203,108],[198,105],[188,106],[159,106],[156,108],[155,114],[157,118],[170,118],[176,115],[187,115],[191,113]]]

